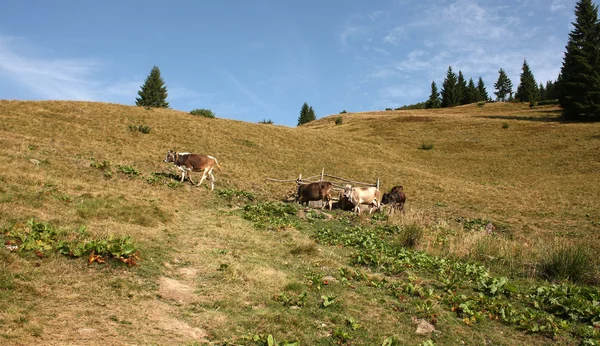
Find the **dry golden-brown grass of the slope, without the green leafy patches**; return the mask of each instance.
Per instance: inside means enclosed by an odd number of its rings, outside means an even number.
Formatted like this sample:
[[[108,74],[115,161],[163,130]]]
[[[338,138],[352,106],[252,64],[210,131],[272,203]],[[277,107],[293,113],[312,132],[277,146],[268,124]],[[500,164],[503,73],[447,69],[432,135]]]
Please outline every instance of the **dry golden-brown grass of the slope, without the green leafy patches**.
[[[282,338],[300,337],[306,344],[335,332],[345,314],[381,319],[375,325],[389,332],[381,337],[412,343],[409,314],[385,310],[376,302],[389,297],[366,288],[362,296],[343,299],[344,310],[322,315],[306,308],[305,314],[289,316],[272,299],[302,287],[310,277],[306,268],[334,274],[347,262],[343,250],[316,245],[301,229],[257,232],[223,214],[226,205],[215,193],[188,184],[150,185],[147,179],[155,172],[175,173],[161,162],[167,149],[217,157],[223,165],[216,173],[218,188],[262,198],[280,198],[293,188],[267,183],[267,176],[306,176],[325,167],[357,180],[379,177],[384,188],[404,185],[409,215],[432,226],[422,249],[459,258],[488,255],[477,252],[485,244],[480,239],[446,230],[456,217],[494,220],[503,225],[503,247],[486,246],[497,252],[496,259],[509,264],[517,259],[521,267],[555,240],[598,250],[599,126],[560,123],[555,112],[488,104],[346,114],[342,125],[335,125],[335,116],[290,129],[110,104],[0,101],[2,226],[31,217],[64,228],[85,224],[97,235],[131,235],[144,250],[140,268],[102,270],[1,249],[2,337],[15,343],[160,344],[279,328]],[[128,125],[148,125],[151,131],[130,131]],[[424,142],[433,149],[419,150]],[[92,158],[110,163],[113,176],[90,167]],[[134,167],[142,178],[130,179],[119,166]],[[448,227],[437,227],[440,220]],[[523,344],[539,341],[502,325],[470,328],[448,314],[443,321],[447,343],[478,343],[489,333],[505,344],[513,337]],[[275,327],[294,324],[287,331]]]

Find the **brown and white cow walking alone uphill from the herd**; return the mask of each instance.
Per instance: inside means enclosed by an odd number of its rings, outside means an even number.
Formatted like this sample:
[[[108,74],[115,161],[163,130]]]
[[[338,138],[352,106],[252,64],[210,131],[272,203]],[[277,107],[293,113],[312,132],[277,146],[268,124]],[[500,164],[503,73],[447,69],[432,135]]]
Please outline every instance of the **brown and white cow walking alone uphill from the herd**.
[[[163,160],[163,162],[173,162],[177,168],[181,170],[181,182],[185,179],[185,174],[187,172],[188,179],[192,184],[195,184],[192,180],[192,172],[202,172],[202,179],[200,182],[196,184],[196,186],[200,186],[204,179],[208,177],[210,180],[210,190],[212,191],[215,188],[215,177],[212,174],[212,170],[215,166],[221,170],[221,165],[217,159],[209,155],[199,155],[192,153],[178,153],[176,151],[169,150],[167,152],[167,157]]]

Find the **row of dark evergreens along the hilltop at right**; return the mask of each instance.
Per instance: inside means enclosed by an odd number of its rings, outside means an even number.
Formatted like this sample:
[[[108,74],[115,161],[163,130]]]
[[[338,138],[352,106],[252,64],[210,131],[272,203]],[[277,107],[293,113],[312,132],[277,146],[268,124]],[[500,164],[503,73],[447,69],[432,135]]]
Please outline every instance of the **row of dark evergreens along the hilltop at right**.
[[[494,83],[496,100],[529,102],[530,105],[558,100],[566,118],[600,119],[600,21],[598,6],[592,0],[577,2],[573,27],[556,81],[536,83],[525,60],[514,95],[512,81],[502,68],[498,71],[498,80]],[[458,71],[457,75],[450,66],[441,91],[435,81],[431,83],[425,107],[454,107],[480,101],[491,101],[481,77],[475,86],[472,79],[467,83],[462,72]]]

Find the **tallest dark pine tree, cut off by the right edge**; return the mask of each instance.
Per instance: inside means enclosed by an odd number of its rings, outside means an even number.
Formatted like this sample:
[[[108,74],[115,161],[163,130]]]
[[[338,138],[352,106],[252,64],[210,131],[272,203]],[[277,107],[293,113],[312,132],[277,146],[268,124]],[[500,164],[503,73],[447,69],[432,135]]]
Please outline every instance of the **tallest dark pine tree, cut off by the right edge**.
[[[577,2],[573,26],[557,81],[560,105],[569,118],[600,116],[600,25],[592,0]]]

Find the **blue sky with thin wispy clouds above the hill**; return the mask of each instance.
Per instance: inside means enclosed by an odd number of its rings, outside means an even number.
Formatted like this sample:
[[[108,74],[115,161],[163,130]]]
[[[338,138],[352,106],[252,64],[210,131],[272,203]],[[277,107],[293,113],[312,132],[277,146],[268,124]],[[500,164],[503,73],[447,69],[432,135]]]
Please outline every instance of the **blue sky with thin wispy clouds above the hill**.
[[[3,0],[0,99],[135,104],[154,65],[171,108],[295,126],[425,101],[448,66],[492,96],[560,71],[576,0]]]

